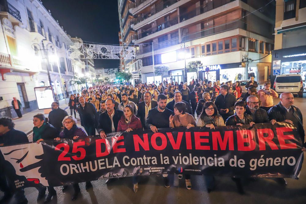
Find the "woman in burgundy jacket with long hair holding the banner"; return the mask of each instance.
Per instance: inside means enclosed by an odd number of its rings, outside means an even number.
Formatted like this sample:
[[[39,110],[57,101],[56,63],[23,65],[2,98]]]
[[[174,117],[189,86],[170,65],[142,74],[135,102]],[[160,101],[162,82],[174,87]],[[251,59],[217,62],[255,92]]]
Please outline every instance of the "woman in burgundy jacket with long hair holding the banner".
[[[142,124],[138,117],[134,114],[134,109],[130,105],[126,105],[123,109],[123,116],[118,122],[117,131],[130,132],[133,130],[142,130]],[[133,190],[136,193],[138,190],[138,176],[133,176]]]

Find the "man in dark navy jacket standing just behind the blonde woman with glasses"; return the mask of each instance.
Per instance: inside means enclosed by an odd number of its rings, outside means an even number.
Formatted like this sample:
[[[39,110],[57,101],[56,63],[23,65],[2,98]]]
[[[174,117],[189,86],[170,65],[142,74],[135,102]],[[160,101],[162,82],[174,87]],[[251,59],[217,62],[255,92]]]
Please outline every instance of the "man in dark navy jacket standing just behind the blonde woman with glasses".
[[[88,136],[95,135],[95,127],[97,124],[97,110],[92,103],[85,102],[83,96],[79,98],[80,105],[77,112],[80,115],[81,125],[85,128]]]

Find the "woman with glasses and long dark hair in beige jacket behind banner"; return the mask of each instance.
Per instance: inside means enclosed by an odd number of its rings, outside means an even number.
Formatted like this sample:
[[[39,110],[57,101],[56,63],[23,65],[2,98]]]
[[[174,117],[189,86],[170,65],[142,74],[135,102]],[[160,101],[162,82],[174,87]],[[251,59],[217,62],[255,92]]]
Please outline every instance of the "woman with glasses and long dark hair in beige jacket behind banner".
[[[215,103],[208,101],[204,104],[202,113],[196,121],[196,127],[215,129],[215,127],[219,126],[224,126],[224,120],[219,115]],[[215,188],[215,177],[211,175],[205,175],[204,180],[208,193],[211,193],[211,191],[213,191]]]

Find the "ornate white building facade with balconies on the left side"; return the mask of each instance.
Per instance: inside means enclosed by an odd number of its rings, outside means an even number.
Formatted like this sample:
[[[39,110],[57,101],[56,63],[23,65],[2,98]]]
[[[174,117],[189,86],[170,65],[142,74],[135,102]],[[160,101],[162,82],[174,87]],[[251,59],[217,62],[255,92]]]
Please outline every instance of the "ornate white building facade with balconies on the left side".
[[[58,98],[78,90],[71,80],[82,62],[68,58],[73,41],[41,1],[0,0],[0,20],[1,116],[16,116],[13,97],[22,113],[37,109],[34,87],[51,84]]]

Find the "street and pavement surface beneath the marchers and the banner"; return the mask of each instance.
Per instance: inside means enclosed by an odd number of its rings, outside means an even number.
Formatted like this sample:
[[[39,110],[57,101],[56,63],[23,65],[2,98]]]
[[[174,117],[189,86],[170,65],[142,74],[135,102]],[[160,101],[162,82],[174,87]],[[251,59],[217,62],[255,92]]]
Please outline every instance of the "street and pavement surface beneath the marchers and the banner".
[[[294,105],[299,107],[302,113],[306,113],[304,103],[305,98],[295,98]],[[274,100],[274,104],[279,102],[279,98]],[[68,103],[68,102],[67,102]],[[61,103],[63,104],[63,103]],[[67,105],[60,105],[65,109]],[[67,112],[69,109],[66,109]],[[36,111],[34,111],[36,113]],[[24,115],[21,119],[15,119],[16,129],[29,130],[32,129],[32,117],[34,112]],[[39,111],[37,111],[39,112]],[[40,111],[41,112],[41,111]],[[70,114],[70,112],[69,112]],[[78,113],[76,113],[78,118]],[[27,116],[27,117],[26,117]],[[46,115],[47,116],[47,115]],[[26,120],[28,118],[28,122]],[[17,121],[18,120],[18,121]],[[21,122],[19,122],[21,121]],[[20,123],[20,124],[19,124]],[[306,121],[304,119],[304,127]],[[80,122],[78,120],[78,126]],[[29,134],[29,139],[31,134]],[[304,158],[305,162],[305,158]],[[306,202],[306,170],[302,168],[299,180],[286,179],[288,185],[286,187],[278,184],[274,179],[257,179],[257,181],[243,180],[245,195],[237,192],[236,184],[229,177],[216,176],[216,189],[210,194],[207,193],[203,176],[191,176],[192,189],[187,190],[185,179],[179,180],[177,175],[169,175],[170,188],[163,186],[162,176],[143,176],[140,178],[139,189],[135,194],[133,192],[132,178],[116,179],[110,184],[105,184],[105,180],[92,181],[93,188],[85,190],[85,183],[80,184],[81,194],[76,201],[72,201],[73,188],[69,187],[67,191],[62,192],[62,187],[55,187],[57,198],[51,200],[51,204],[55,203],[305,203]],[[0,192],[0,197],[3,195]],[[28,203],[37,202],[38,191],[35,188],[26,188],[25,195]],[[12,199],[9,204],[15,203]]]

